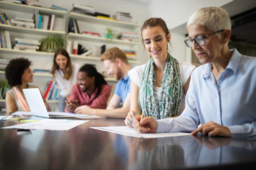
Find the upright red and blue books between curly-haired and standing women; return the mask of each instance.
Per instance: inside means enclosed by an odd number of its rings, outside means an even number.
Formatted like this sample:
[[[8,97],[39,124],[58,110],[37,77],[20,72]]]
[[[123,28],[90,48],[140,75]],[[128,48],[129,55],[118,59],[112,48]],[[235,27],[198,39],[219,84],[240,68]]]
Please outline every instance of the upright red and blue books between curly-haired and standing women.
[[[45,100],[53,101],[58,100],[60,95],[60,87],[56,83],[56,81],[48,81],[45,87],[45,92],[43,94],[43,98]]]

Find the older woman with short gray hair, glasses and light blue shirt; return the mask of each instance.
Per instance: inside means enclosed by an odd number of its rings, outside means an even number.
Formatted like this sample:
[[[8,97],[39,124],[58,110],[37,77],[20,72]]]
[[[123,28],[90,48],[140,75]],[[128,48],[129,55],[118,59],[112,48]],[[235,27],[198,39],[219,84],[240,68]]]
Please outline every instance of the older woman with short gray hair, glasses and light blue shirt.
[[[140,132],[191,132],[256,137],[256,58],[229,50],[231,21],[220,7],[201,8],[189,18],[188,40],[203,64],[191,74],[186,108],[178,118],[133,119]],[[198,125],[201,125],[198,127]]]

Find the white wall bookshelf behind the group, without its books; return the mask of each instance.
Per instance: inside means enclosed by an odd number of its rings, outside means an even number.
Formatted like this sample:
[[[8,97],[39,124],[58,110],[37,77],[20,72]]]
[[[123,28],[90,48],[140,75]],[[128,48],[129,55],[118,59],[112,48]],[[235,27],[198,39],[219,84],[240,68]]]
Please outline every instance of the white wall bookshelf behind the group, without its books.
[[[139,42],[130,42],[125,40],[118,40],[113,38],[108,40],[105,36],[101,38],[91,37],[89,35],[82,35],[78,33],[68,33],[68,19],[75,18],[78,20],[78,25],[82,30],[87,30],[87,26],[90,26],[89,29],[99,30],[102,35],[106,27],[111,27],[117,29],[117,32],[120,30],[125,31],[137,31],[139,25],[137,23],[127,23],[123,21],[112,21],[105,18],[97,18],[94,16],[86,16],[80,13],[73,13],[68,11],[60,11],[52,8],[45,8],[40,6],[26,6],[22,4],[14,4],[9,1],[0,1],[0,11],[1,13],[6,13],[9,20],[16,16],[21,16],[24,18],[32,18],[33,14],[38,11],[42,15],[52,15],[62,17],[65,19],[65,31],[59,30],[43,30],[38,28],[23,28],[18,26],[5,25],[0,23],[0,30],[8,30],[10,32],[11,44],[14,46],[14,38],[27,38],[33,40],[41,40],[46,38],[48,35],[60,35],[66,40],[78,40],[82,45],[92,44],[92,45],[106,45],[106,49],[117,46],[122,50],[134,50],[137,51],[137,47],[140,44]],[[87,43],[87,44],[86,44]],[[33,69],[51,69],[53,65],[53,52],[41,52],[41,51],[25,51],[25,50],[14,50],[0,47],[0,58],[11,60],[16,57],[26,57],[28,60],[31,60],[31,70]],[[100,55],[92,56],[81,56],[81,55],[70,55],[72,62],[77,62],[82,66],[85,63],[95,64],[98,72],[105,71],[105,67],[100,61]],[[137,60],[129,60],[130,64],[139,64]],[[5,79],[5,72],[0,71],[0,81]],[[33,83],[38,86],[39,89],[43,92],[46,82],[53,79],[51,74],[34,74]],[[116,84],[117,80],[112,77],[105,78],[109,84]],[[0,100],[0,103],[5,102],[5,100]],[[49,103],[55,104],[54,107],[58,107],[56,103],[58,101],[48,101]],[[52,106],[51,106],[52,107]],[[52,107],[53,108],[53,107]]]

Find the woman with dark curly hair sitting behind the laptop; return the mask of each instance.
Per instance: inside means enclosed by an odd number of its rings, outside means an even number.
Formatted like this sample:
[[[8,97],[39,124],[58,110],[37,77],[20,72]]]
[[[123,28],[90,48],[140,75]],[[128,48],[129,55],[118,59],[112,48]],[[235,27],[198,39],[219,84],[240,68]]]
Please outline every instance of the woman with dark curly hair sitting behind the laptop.
[[[31,61],[26,58],[16,58],[10,60],[6,67],[6,79],[8,84],[13,88],[6,92],[6,113],[14,113],[16,111],[30,111],[23,89],[38,88],[28,83],[33,82],[33,73],[29,68]],[[46,108],[50,111],[48,103],[44,100]]]

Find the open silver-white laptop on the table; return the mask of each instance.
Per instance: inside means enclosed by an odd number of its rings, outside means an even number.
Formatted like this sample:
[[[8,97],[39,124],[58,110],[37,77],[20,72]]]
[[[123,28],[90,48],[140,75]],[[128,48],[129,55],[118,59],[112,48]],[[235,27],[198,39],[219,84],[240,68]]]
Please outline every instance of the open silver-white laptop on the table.
[[[40,116],[43,118],[75,118],[75,116],[54,115],[54,112],[48,112],[46,110],[45,103],[43,102],[41,92],[38,88],[23,89],[23,93],[26,97],[26,101],[28,103],[32,115]]]

